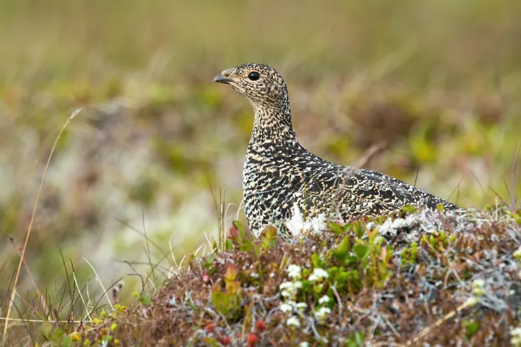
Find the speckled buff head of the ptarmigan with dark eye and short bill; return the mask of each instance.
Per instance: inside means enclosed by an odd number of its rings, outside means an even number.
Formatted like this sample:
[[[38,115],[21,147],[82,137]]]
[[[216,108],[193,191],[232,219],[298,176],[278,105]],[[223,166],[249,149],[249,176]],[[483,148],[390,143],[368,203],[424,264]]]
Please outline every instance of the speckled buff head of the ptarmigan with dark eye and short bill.
[[[254,110],[289,108],[288,89],[273,67],[248,63],[222,71],[213,82],[230,85],[245,96]]]

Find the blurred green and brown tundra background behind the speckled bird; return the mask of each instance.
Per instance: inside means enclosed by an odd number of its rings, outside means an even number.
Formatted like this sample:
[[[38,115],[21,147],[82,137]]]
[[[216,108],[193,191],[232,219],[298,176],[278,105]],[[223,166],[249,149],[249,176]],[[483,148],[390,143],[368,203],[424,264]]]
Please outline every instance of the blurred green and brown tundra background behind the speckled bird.
[[[147,271],[145,239],[125,223],[179,262],[217,230],[210,187],[232,204],[229,226],[253,118],[211,81],[243,62],[286,78],[313,153],[352,164],[383,144],[366,168],[411,184],[417,173],[462,207],[494,203],[490,187],[509,201],[521,194],[520,14],[520,1],[485,0],[1,1],[1,302],[76,108],[26,251],[40,290],[65,276],[60,250],[78,282],[94,277],[82,257],[106,287],[133,272],[117,260]],[[24,268],[19,292],[34,287]]]

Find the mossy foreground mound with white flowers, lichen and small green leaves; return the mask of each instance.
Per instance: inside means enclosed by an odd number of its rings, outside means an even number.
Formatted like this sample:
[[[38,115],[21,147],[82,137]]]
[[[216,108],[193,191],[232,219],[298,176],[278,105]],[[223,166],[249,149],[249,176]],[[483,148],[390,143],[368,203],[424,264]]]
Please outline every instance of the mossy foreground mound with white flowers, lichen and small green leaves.
[[[330,223],[290,242],[267,229],[231,236],[135,310],[76,341],[130,346],[397,346],[516,344],[521,212]],[[109,323],[110,322],[110,323]],[[111,323],[117,328],[108,331]]]

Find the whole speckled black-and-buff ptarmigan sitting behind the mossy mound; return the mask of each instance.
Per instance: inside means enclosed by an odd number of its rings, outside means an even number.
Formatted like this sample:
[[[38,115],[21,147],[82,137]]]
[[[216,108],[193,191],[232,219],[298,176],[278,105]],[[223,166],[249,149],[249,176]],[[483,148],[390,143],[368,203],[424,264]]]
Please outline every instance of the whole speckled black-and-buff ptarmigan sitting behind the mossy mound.
[[[405,205],[458,210],[397,178],[333,164],[305,149],[292,126],[288,87],[273,67],[242,64],[222,71],[213,83],[229,85],[254,110],[242,188],[248,227],[256,237],[268,226],[286,239],[304,228],[321,232],[326,221],[379,217]]]

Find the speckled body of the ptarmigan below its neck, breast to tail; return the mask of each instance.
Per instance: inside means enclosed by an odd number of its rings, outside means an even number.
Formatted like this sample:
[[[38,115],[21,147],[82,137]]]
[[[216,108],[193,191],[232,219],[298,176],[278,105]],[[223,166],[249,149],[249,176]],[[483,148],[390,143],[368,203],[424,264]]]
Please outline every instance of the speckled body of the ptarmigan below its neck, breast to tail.
[[[298,142],[258,142],[245,158],[243,188],[251,230],[272,224],[288,232],[286,221],[380,216],[404,205],[445,210],[456,205],[379,172],[344,167],[306,151]],[[298,209],[298,211],[297,211]]]

